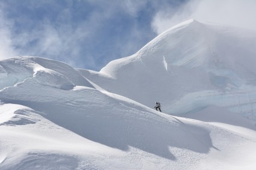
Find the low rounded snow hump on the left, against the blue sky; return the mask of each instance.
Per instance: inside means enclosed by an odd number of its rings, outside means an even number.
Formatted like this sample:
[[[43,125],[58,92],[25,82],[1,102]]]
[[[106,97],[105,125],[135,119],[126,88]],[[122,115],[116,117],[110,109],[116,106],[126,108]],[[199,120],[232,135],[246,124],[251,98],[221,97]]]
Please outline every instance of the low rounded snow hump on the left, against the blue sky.
[[[0,90],[18,85],[26,79],[61,89],[72,89],[75,85],[93,87],[86,78],[63,62],[31,56],[0,61]]]

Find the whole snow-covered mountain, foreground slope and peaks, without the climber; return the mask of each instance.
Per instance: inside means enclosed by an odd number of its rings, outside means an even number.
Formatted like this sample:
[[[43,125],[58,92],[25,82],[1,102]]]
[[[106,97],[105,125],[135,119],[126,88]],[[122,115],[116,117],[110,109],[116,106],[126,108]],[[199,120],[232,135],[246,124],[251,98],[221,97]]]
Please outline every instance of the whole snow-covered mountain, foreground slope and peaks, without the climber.
[[[0,61],[0,169],[254,169],[255,35],[189,20],[100,72]]]

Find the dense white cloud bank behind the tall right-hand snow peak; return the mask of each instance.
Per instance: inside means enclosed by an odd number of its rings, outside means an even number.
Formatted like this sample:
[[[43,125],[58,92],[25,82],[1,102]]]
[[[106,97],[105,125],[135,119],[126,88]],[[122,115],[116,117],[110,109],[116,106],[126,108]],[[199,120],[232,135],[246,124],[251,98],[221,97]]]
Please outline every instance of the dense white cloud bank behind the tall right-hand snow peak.
[[[157,34],[184,20],[196,19],[256,30],[255,0],[192,0],[173,13],[170,7],[158,11],[152,20]]]

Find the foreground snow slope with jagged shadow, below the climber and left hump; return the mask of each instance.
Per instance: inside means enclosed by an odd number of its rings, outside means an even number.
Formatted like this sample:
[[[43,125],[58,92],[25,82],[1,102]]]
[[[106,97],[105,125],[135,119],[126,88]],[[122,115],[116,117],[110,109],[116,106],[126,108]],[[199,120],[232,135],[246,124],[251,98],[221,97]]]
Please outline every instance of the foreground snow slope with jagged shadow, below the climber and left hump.
[[[234,169],[256,148],[248,136],[94,88],[27,79],[0,96],[1,169],[194,169],[207,159],[204,168]]]

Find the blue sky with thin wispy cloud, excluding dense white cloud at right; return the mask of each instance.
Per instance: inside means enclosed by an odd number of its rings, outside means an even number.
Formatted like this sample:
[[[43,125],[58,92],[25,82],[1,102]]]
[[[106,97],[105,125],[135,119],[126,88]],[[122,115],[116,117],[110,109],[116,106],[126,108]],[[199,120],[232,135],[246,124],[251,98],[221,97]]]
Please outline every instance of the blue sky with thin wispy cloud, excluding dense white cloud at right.
[[[0,59],[41,56],[99,70],[152,40],[154,14],[179,2],[0,1]]]

